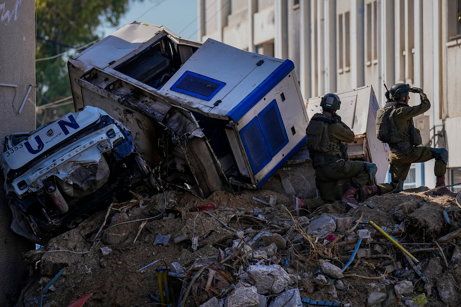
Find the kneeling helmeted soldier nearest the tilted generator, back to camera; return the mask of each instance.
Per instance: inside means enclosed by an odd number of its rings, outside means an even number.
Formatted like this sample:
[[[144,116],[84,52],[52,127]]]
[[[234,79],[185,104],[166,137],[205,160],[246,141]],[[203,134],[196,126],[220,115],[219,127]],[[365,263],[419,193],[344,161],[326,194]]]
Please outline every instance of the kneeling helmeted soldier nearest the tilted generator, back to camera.
[[[357,205],[355,196],[362,200],[378,193],[377,186],[365,186],[378,170],[375,164],[363,161],[349,161],[347,145],[354,142],[355,135],[336,114],[341,100],[336,94],[326,94],[320,102],[322,113],[311,118],[307,129],[307,148],[315,169],[315,185],[320,198],[300,199],[293,196],[293,206],[299,215],[300,209],[312,212],[325,202],[334,202],[338,180],[352,179],[342,201]]]

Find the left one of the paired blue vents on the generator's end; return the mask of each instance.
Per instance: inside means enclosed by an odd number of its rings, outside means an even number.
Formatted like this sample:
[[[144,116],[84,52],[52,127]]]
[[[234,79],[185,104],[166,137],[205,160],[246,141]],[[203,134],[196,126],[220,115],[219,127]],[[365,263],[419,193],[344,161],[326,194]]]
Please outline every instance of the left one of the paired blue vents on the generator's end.
[[[253,174],[257,174],[272,159],[258,117],[246,124],[239,134]]]

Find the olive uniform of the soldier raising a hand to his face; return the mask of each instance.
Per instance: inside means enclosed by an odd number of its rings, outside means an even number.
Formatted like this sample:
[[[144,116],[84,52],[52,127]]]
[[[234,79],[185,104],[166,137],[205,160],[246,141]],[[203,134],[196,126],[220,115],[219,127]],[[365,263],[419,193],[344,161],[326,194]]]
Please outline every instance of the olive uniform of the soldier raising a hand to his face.
[[[392,182],[378,184],[378,189],[381,193],[391,192],[396,189],[399,182],[407,178],[412,163],[426,162],[435,159],[434,175],[437,177],[445,175],[446,161],[444,161],[444,159],[448,159],[448,153],[446,154],[446,158],[444,158],[442,157],[442,153],[435,152],[434,148],[423,146],[417,147],[410,141],[409,130],[413,124],[412,118],[426,112],[431,107],[431,102],[426,94],[420,93],[420,98],[421,103],[418,106],[408,106],[407,104],[398,102],[386,103],[385,107],[390,106],[393,109],[391,117],[398,130],[395,132],[402,138],[402,141],[388,144],[390,149],[389,172]]]

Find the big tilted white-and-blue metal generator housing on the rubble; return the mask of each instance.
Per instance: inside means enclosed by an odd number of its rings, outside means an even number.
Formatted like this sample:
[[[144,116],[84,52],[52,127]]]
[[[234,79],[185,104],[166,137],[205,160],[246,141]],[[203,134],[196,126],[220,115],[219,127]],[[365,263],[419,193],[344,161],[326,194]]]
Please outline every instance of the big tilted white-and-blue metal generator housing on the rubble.
[[[294,65],[132,23],[68,61],[76,110],[131,131],[162,188],[258,189],[305,142]]]

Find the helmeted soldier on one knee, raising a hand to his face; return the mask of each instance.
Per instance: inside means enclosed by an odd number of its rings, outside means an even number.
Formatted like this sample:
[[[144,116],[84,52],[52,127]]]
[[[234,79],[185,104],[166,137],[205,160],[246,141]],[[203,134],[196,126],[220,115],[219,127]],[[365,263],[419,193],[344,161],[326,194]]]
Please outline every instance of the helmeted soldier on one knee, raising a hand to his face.
[[[408,106],[408,93],[419,93],[421,103]],[[448,162],[448,151],[445,148],[423,147],[420,131],[414,128],[413,118],[431,107],[427,95],[420,88],[411,88],[409,84],[397,83],[386,92],[387,103],[379,109],[376,116],[376,134],[390,148],[391,183],[378,184],[380,191],[394,193],[403,190],[403,182],[407,178],[412,163],[426,162],[435,159],[434,174],[437,177],[435,195],[455,196],[445,186],[445,172]]]

